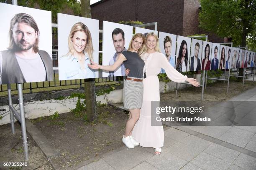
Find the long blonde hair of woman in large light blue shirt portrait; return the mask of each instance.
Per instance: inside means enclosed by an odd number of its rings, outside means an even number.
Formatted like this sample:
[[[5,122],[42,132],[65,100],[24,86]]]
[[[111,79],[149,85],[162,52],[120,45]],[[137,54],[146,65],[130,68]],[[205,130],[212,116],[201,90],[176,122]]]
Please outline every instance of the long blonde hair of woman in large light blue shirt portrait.
[[[93,62],[93,47],[92,47],[92,36],[91,32],[86,25],[83,23],[76,23],[70,30],[69,37],[68,37],[68,45],[69,45],[69,52],[67,56],[74,55],[74,47],[72,45],[72,38],[74,37],[74,33],[77,31],[83,31],[87,35],[86,45],[84,48],[84,52],[87,53],[91,62]]]

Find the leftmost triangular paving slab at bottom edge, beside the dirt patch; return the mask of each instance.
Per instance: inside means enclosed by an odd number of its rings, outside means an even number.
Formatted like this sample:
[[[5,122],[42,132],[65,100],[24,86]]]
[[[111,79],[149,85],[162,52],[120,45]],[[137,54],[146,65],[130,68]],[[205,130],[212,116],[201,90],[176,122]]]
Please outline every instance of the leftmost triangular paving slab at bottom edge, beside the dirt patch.
[[[112,168],[110,165],[108,165],[108,163],[106,163],[104,160],[100,159],[97,162],[93,162],[83,167],[80,167],[77,170],[115,170],[115,169]]]

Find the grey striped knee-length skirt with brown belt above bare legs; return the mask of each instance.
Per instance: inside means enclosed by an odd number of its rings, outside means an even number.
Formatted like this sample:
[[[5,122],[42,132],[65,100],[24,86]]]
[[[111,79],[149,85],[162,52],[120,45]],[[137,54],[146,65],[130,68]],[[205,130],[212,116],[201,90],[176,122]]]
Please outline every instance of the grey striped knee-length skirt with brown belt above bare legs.
[[[130,77],[143,79],[137,77]],[[126,109],[140,109],[143,100],[143,82],[125,80],[123,87],[123,107]]]

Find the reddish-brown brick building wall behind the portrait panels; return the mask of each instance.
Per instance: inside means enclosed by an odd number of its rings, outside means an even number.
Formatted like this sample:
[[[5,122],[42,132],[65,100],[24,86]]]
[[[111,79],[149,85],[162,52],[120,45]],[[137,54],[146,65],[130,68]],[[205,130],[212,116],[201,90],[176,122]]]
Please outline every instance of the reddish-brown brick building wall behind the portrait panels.
[[[92,18],[100,20],[100,29],[103,20],[114,23],[139,20],[157,22],[158,31],[183,36],[206,34],[211,42],[223,42],[222,37],[198,27],[199,7],[199,0],[102,0],[91,5],[91,13]]]

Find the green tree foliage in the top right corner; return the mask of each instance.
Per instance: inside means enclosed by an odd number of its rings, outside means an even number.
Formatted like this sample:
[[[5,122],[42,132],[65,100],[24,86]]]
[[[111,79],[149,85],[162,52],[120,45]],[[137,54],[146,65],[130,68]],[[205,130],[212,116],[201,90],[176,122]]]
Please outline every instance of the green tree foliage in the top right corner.
[[[232,37],[234,45],[246,46],[255,32],[256,0],[200,0],[200,28],[220,37]]]

